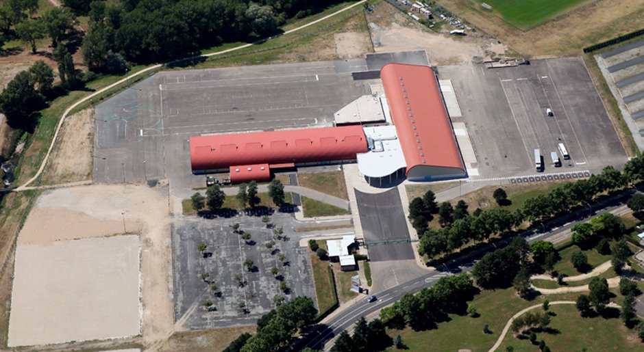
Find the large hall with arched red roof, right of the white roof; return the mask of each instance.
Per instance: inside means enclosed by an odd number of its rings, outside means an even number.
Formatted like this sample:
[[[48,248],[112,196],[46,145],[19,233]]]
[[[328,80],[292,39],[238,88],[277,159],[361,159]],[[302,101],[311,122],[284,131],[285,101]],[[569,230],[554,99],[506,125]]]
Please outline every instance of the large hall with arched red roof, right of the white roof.
[[[465,176],[434,70],[428,66],[386,64],[380,77],[408,176],[414,167],[423,166],[451,168],[445,174],[462,172]]]

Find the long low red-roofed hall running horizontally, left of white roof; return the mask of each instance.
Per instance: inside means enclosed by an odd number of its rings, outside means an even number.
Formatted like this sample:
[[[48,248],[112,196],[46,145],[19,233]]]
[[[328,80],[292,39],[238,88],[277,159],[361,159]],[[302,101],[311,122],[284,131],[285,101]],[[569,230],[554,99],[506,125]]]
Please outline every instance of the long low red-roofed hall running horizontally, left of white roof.
[[[193,172],[235,165],[353,160],[362,152],[367,152],[362,126],[190,137]]]

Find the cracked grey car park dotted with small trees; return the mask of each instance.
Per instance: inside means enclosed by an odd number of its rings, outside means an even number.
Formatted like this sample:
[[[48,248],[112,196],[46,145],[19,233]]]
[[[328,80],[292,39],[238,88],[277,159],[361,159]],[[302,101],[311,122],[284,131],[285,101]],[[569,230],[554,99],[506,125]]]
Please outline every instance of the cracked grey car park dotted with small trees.
[[[275,308],[273,297],[283,295],[286,299],[308,296],[315,299],[308,249],[299,247],[297,239],[290,238],[292,217],[276,214],[271,217],[276,226],[284,227],[288,240],[273,239],[273,230],[262,223],[261,217],[239,216],[230,219],[203,219],[182,217],[173,224],[173,276],[175,290],[175,319],[184,321],[188,329],[206,329],[231,325],[253,324],[262,314]],[[240,224],[240,230],[249,232],[247,244],[230,225]],[[265,243],[275,241],[268,249]],[[206,243],[206,255],[197,249]],[[279,260],[286,256],[287,264]],[[248,270],[243,262],[253,260],[253,269]],[[270,272],[280,269],[278,279]],[[203,280],[201,275],[208,273]],[[236,275],[243,275],[243,285]],[[288,294],[280,290],[286,282]],[[221,295],[214,295],[210,284],[216,284]],[[208,310],[204,302],[210,299],[214,309]],[[245,303],[244,312],[238,304]]]

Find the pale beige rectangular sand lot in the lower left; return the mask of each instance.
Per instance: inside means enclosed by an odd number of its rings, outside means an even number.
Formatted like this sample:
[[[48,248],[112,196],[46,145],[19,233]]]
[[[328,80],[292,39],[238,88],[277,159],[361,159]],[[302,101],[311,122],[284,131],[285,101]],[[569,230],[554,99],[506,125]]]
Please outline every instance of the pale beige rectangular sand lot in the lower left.
[[[140,334],[138,243],[18,245],[9,347]]]

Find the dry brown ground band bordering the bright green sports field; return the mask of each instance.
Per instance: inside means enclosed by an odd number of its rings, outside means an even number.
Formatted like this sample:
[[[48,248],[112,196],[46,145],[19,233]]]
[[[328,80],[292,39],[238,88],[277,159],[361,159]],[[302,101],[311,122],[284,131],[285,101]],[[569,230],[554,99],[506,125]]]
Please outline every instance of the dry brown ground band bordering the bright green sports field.
[[[501,39],[521,55],[532,57],[579,55],[585,46],[644,27],[641,0],[588,1],[528,31],[479,10],[480,5],[474,1],[437,2],[476,28]]]

